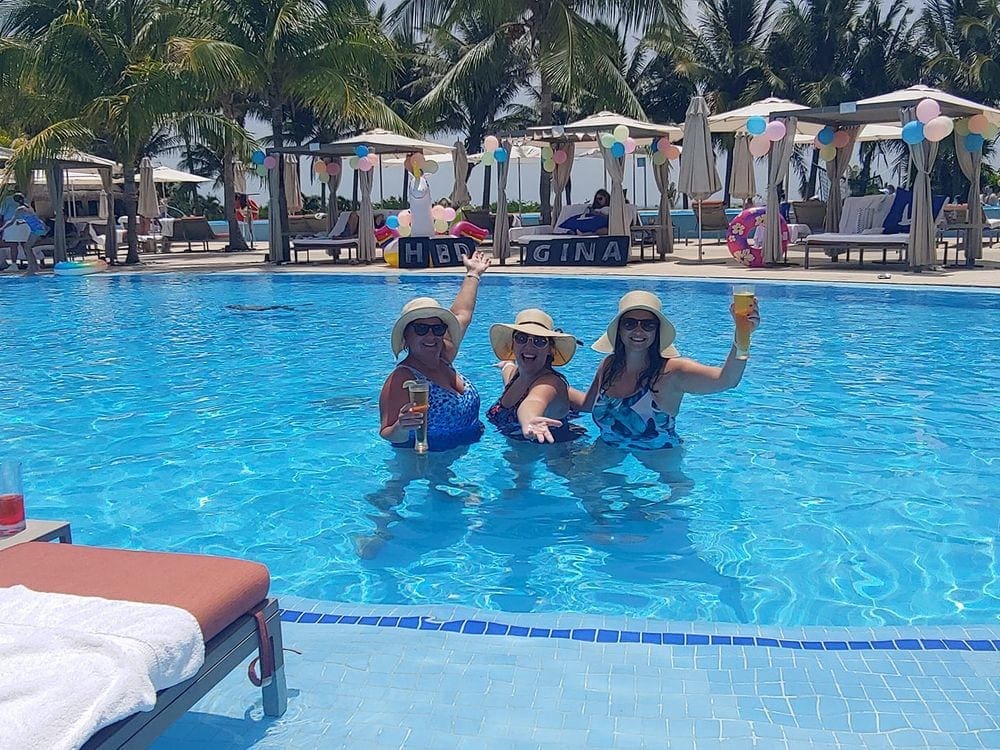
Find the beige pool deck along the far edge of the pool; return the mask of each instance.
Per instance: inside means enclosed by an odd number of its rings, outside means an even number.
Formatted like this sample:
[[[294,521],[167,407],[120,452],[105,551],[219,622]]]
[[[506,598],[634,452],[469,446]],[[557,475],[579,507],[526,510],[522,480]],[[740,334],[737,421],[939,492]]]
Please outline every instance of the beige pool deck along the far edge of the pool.
[[[247,271],[268,273],[358,273],[358,274],[408,274],[408,273],[455,273],[455,269],[443,268],[427,271],[400,271],[389,268],[382,262],[372,265],[350,265],[333,263],[332,261],[313,261],[311,263],[289,264],[274,267],[264,262],[266,248],[257,243],[257,249],[247,253],[223,253],[223,243],[212,243],[212,252],[183,252],[175,250],[172,253],[143,255],[138,266],[116,267],[111,273],[156,273],[172,271]],[[489,248],[485,248],[489,250]],[[882,266],[871,263],[874,255],[867,256],[863,268],[858,268],[854,262],[840,261],[833,263],[822,252],[810,255],[810,267],[802,267],[802,253],[790,252],[791,265],[780,268],[744,268],[733,261],[725,245],[707,241],[704,245],[705,262],[698,262],[698,249],[695,243],[685,245],[678,242],[673,255],[665,262],[630,263],[625,267],[553,267],[521,266],[514,260],[506,265],[494,263],[490,273],[504,274],[545,274],[561,276],[634,276],[646,277],[677,277],[677,278],[708,278],[728,279],[743,283],[768,281],[806,281],[818,284],[824,283],[866,283],[866,284],[904,284],[930,286],[959,286],[1000,288],[1000,242],[992,247],[983,248],[981,268],[948,267],[935,271],[911,273],[899,264]],[[318,257],[318,256],[316,256]],[[941,257],[941,250],[938,250]],[[948,260],[954,262],[954,248],[950,247]],[[880,279],[888,274],[891,278]],[[0,274],[0,277],[9,274]]]

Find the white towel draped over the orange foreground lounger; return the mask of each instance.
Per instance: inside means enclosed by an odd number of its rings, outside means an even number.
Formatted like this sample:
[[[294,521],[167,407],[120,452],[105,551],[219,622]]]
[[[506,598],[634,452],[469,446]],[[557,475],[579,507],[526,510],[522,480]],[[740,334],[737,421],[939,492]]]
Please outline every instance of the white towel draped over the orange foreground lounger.
[[[204,660],[178,607],[0,588],[0,747],[78,748]]]

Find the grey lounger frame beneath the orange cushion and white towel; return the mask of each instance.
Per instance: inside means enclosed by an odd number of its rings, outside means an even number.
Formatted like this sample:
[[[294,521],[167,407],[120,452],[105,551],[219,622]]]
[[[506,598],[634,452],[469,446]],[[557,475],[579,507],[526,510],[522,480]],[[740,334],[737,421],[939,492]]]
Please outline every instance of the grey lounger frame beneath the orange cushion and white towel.
[[[274,672],[270,682],[261,687],[264,713],[281,716],[288,702],[285,667],[282,656],[281,615],[277,599],[266,599],[252,611],[241,615],[225,630],[205,644],[205,663],[198,674],[173,687],[161,690],[152,711],[140,711],[105,727],[83,746],[83,750],[136,750],[145,748],[174,721],[219,684],[243,660],[259,653],[260,643],[256,613],[267,623],[268,645],[274,654]]]

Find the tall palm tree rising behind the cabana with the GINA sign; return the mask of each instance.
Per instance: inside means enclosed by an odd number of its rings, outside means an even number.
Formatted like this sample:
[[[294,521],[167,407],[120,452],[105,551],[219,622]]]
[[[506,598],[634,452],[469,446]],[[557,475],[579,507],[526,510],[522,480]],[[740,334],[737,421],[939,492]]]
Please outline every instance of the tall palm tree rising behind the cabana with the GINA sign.
[[[621,71],[608,64],[606,56],[594,55],[606,48],[606,37],[594,19],[621,20],[628,28],[642,28],[654,21],[678,22],[677,0],[403,0],[394,19],[410,28],[427,24],[453,29],[463,19],[487,16],[497,19],[487,36],[465,50],[448,71],[443,87],[458,86],[470,79],[469,71],[503,48],[524,50],[531,77],[525,82],[535,89],[538,119],[552,125],[556,97],[571,101],[585,81],[607,86],[616,96],[616,108],[641,115],[638,101],[625,85]],[[542,212],[550,218],[549,175],[540,180]]]

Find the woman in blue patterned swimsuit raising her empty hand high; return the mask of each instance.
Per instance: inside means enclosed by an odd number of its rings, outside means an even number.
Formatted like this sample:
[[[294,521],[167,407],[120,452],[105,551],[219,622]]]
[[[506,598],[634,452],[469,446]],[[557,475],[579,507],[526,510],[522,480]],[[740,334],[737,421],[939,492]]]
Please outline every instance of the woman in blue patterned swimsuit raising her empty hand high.
[[[481,252],[464,256],[465,279],[451,309],[430,297],[418,297],[403,306],[392,329],[392,353],[406,351],[382,386],[379,396],[379,435],[397,447],[413,445],[414,431],[427,420],[427,442],[432,451],[447,450],[479,439],[479,393],[452,362],[472,322],[479,283],[490,260]],[[408,380],[428,382],[426,414],[413,411]]]

